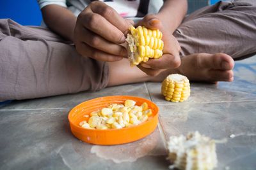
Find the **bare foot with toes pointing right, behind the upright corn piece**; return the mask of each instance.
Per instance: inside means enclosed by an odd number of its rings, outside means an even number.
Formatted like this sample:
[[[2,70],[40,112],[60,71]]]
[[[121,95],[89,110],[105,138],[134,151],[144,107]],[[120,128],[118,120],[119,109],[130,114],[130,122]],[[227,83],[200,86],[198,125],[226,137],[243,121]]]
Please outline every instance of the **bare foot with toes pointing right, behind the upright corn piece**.
[[[168,74],[179,73],[191,81],[233,81],[234,60],[225,53],[196,53],[182,58],[177,69],[167,69],[153,81],[163,81]]]

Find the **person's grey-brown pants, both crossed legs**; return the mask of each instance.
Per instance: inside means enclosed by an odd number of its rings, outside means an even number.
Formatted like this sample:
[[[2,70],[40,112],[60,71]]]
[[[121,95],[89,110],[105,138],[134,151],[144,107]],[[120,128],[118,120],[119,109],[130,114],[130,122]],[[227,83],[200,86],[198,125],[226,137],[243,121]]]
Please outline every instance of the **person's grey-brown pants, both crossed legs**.
[[[174,36],[181,55],[218,53],[243,59],[256,53],[256,1],[221,2],[184,19]],[[0,20],[0,101],[100,90],[108,64],[81,57],[42,27]]]

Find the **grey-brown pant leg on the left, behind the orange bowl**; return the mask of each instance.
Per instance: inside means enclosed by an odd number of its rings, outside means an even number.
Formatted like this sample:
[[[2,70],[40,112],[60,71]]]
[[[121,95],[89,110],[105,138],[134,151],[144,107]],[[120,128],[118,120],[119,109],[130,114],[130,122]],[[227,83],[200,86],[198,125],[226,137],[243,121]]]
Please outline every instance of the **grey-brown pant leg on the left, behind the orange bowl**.
[[[41,27],[0,20],[0,56],[0,101],[99,90],[108,83],[108,64],[81,57]]]

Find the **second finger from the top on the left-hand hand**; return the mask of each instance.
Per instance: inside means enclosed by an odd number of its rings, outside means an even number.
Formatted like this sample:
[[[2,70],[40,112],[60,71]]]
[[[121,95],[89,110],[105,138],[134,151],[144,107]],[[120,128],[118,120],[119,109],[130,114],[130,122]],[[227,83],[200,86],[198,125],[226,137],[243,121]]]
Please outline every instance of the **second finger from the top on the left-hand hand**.
[[[97,13],[86,12],[77,19],[84,27],[95,32],[95,34],[99,34],[108,41],[113,43],[125,42],[124,33]]]

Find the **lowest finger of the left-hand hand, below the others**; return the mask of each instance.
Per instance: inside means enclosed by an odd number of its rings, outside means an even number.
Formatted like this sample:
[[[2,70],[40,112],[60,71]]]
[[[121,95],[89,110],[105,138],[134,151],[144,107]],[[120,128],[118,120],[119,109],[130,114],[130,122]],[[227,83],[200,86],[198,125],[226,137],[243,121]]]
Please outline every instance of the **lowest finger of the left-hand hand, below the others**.
[[[91,57],[95,60],[113,62],[113,61],[118,61],[123,59],[123,57],[110,55],[108,53],[92,48],[92,46],[86,45],[86,43],[83,43],[83,42],[77,43],[76,50],[83,57]]]

